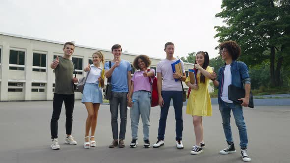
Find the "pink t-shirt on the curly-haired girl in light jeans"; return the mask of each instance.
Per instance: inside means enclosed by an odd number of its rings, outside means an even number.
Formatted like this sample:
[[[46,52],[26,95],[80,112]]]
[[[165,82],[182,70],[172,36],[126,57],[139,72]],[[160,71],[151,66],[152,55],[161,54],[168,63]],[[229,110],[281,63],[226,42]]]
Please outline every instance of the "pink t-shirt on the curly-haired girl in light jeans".
[[[153,72],[155,74],[154,69],[150,69],[150,72]],[[139,90],[145,90],[151,92],[151,85],[149,82],[149,77],[144,77],[143,76],[144,71],[136,71],[131,79],[131,81],[134,82],[134,91],[139,91]]]

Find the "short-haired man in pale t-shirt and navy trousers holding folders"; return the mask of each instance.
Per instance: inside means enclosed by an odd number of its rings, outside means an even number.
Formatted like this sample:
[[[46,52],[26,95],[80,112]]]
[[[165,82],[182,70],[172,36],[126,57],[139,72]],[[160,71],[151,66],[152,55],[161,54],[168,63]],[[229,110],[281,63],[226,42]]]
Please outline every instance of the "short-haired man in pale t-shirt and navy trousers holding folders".
[[[176,61],[176,58],[173,56],[174,44],[172,42],[167,42],[165,44],[164,51],[166,52],[166,58],[157,63],[156,70],[159,105],[161,110],[158,128],[158,141],[153,145],[153,148],[158,148],[164,145],[166,119],[171,99],[173,99],[176,120],[176,147],[177,149],[183,149],[183,144],[181,142],[183,131],[181,81],[186,80],[184,63],[181,61],[183,74],[173,72],[171,64]],[[178,79],[178,81],[175,81],[175,79]]]

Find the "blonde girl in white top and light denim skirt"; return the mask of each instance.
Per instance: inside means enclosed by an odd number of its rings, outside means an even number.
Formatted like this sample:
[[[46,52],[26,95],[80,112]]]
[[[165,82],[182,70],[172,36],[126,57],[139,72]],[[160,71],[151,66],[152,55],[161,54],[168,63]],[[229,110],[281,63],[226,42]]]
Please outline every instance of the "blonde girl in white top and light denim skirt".
[[[96,146],[95,141],[95,130],[97,125],[98,111],[100,104],[103,103],[102,87],[104,86],[104,81],[101,78],[102,68],[100,63],[104,65],[104,55],[98,51],[92,54],[93,64],[88,64],[84,68],[85,72],[89,71],[87,76],[87,81],[83,91],[82,103],[85,104],[87,108],[87,121],[86,121],[86,134],[84,148],[90,148]],[[101,87],[99,87],[101,83]],[[89,130],[91,134],[89,136]]]

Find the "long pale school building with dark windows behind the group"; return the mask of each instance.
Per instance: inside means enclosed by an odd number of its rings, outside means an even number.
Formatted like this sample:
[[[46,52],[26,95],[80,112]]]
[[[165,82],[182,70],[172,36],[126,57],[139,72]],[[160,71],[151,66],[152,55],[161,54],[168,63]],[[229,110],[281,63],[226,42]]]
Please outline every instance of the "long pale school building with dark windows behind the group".
[[[50,63],[57,55],[63,55],[63,44],[0,32],[0,101],[53,100],[55,74]],[[83,68],[88,62],[92,63],[92,54],[96,51],[101,51],[106,61],[113,59],[111,50],[76,45],[72,61],[78,79],[86,75]],[[128,60],[132,65],[137,55],[123,52],[122,59]],[[156,70],[157,63],[162,58],[150,58],[151,68]],[[184,65],[188,75],[188,69],[193,64]],[[183,85],[187,90],[185,83]],[[75,99],[81,98],[82,94],[76,92]]]

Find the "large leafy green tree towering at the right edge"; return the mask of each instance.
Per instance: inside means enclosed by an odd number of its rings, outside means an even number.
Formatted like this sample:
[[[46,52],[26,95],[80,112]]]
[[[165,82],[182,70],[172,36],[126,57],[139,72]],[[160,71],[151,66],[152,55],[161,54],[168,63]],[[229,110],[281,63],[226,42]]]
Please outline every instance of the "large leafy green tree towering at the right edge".
[[[270,79],[275,86],[281,84],[281,68],[290,53],[289,3],[287,0],[223,0],[222,12],[216,14],[226,24],[215,27],[219,42],[235,40],[242,49],[240,60],[248,65],[270,60]]]

